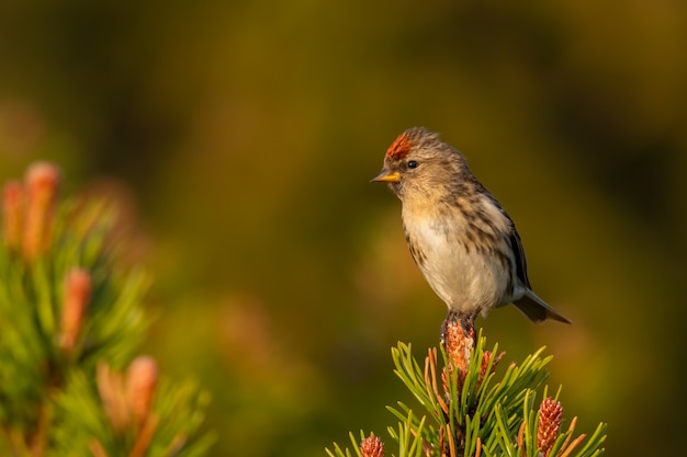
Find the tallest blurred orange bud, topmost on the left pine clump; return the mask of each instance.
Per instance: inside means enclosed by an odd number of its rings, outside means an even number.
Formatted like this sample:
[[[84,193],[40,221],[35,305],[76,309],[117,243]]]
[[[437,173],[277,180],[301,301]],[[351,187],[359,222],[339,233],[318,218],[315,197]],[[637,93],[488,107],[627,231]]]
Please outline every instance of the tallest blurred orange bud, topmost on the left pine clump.
[[[59,172],[48,162],[35,162],[26,170],[26,219],[24,258],[34,261],[49,245],[49,230],[57,202]]]

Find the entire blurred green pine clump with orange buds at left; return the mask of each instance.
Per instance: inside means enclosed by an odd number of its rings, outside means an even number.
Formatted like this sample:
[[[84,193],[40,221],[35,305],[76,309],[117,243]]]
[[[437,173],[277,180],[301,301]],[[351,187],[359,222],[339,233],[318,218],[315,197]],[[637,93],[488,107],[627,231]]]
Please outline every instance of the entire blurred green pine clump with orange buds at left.
[[[201,456],[207,395],[134,358],[148,279],[117,264],[115,212],[58,184],[42,162],[2,193],[0,454]]]

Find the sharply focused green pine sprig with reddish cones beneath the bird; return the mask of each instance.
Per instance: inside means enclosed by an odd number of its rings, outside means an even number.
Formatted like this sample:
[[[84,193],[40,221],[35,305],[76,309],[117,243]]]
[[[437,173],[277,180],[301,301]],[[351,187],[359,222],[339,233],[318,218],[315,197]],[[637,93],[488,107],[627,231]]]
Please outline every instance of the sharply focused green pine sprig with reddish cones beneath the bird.
[[[394,373],[425,410],[416,414],[398,401],[388,411],[401,422],[398,430],[390,427],[392,439],[398,443],[399,456],[485,456],[485,457],[598,457],[602,455],[606,424],[598,425],[587,437],[574,436],[576,418],[562,432],[562,407],[543,388],[543,400],[536,407],[537,391],[549,374],[545,366],[552,356],[540,349],[522,363],[511,363],[497,379],[495,368],[498,346],[486,351],[481,335],[466,361],[468,369],[455,368],[441,346],[443,368],[437,364],[437,349],[430,349],[424,368],[413,356],[409,344],[392,349]],[[412,437],[413,445],[408,445]],[[364,435],[357,442],[351,435],[357,455]],[[350,456],[348,448],[335,444],[330,457]],[[421,449],[419,453],[418,449]],[[409,454],[412,452],[412,454]],[[419,453],[419,454],[418,454]]]

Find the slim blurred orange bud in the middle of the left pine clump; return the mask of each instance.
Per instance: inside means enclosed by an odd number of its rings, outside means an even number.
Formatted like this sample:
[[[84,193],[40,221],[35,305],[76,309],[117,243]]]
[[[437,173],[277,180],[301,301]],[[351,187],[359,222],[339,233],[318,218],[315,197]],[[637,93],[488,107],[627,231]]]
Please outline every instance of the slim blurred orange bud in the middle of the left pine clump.
[[[91,275],[86,270],[75,269],[65,279],[65,302],[61,319],[60,346],[71,352],[81,331],[83,316],[91,301]]]

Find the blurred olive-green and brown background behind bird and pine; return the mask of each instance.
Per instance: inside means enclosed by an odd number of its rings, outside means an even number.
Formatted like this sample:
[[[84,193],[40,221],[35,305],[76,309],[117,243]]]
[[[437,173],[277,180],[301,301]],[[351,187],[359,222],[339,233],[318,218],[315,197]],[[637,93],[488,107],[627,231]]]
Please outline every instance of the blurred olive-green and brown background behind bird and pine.
[[[444,306],[376,174],[442,133],[516,220],[571,327],[481,320],[547,345],[609,456],[684,447],[687,3],[85,1],[0,8],[0,178],[56,161],[121,202],[156,282],[143,351],[213,395],[213,456],[324,456],[387,438],[410,401],[390,346]],[[683,389],[683,390],[679,390]]]

